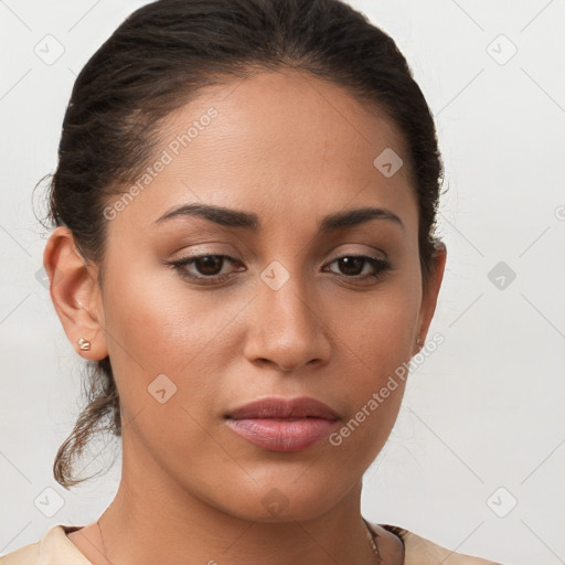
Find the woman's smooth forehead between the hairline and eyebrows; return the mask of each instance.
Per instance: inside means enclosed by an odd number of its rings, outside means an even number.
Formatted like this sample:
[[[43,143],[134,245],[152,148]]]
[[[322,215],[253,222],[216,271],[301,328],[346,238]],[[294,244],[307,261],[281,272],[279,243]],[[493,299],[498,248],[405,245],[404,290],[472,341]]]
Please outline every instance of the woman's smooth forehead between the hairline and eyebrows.
[[[298,209],[321,216],[348,204],[403,211],[408,223],[417,215],[394,122],[303,72],[265,71],[206,87],[168,116],[159,139],[151,172],[120,213],[139,226],[189,202],[287,222]],[[384,174],[383,161],[399,168]]]

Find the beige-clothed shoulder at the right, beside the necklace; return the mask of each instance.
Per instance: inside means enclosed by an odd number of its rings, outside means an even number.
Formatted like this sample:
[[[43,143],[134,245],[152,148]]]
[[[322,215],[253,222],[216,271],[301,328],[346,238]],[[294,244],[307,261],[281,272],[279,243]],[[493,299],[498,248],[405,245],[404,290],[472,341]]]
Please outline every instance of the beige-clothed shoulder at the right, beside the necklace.
[[[386,536],[387,533],[392,533],[402,540],[404,545],[404,565],[422,565],[423,563],[426,565],[502,565],[481,557],[456,553],[404,527],[371,522],[370,525],[377,535]]]

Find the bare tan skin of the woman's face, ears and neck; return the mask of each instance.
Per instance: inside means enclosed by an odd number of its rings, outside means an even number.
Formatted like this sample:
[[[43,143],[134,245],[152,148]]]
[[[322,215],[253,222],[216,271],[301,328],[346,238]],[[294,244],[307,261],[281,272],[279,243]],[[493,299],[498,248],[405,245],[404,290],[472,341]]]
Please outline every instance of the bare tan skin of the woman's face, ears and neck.
[[[306,395],[349,422],[420,349],[446,247],[424,291],[404,141],[345,89],[297,71],[209,88],[169,116],[156,154],[212,106],[211,125],[108,222],[103,288],[66,227],[44,253],[50,276],[60,273],[51,296],[70,341],[84,359],[109,355],[120,395],[121,482],[99,520],[106,554],[116,565],[375,563],[362,477],[394,425],[402,381],[339,447],[269,451],[223,416],[259,397]],[[386,148],[404,160],[391,178],[373,164]],[[255,213],[262,228],[156,223],[194,202]],[[372,220],[318,233],[327,214],[363,206],[388,209],[404,227]],[[202,286],[164,265],[191,253],[236,263],[221,267],[226,281]],[[392,269],[360,280],[374,269],[335,260],[351,255],[387,257]],[[278,290],[260,278],[274,260],[289,275]],[[89,351],[78,350],[81,337]],[[177,386],[163,404],[148,394],[159,374]],[[271,489],[287,504],[277,514],[264,505]],[[399,540],[377,531],[386,563],[402,563]],[[95,524],[68,537],[93,564],[107,563]]]

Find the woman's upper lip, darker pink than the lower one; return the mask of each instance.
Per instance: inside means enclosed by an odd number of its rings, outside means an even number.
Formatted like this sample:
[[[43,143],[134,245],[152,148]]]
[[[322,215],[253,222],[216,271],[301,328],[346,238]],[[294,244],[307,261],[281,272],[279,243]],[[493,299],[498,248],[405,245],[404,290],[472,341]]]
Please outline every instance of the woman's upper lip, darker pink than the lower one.
[[[326,418],[339,419],[339,415],[327,404],[309,396],[299,398],[260,398],[230,412],[226,417],[242,418]]]

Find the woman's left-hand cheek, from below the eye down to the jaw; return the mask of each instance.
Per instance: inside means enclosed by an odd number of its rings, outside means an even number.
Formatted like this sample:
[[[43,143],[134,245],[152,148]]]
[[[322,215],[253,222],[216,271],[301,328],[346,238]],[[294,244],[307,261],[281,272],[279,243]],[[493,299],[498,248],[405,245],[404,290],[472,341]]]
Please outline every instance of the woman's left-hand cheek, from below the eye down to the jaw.
[[[207,428],[221,386],[210,376],[218,364],[210,345],[231,308],[211,316],[201,300],[189,299],[194,292],[179,287],[170,275],[139,276],[138,270],[136,284],[126,274],[116,276],[105,297],[107,338],[122,417],[132,420],[125,434],[130,449],[141,440],[160,461],[198,466],[192,454],[213,456],[202,427]],[[225,465],[218,456],[216,463]],[[145,456],[137,451],[137,457]]]

